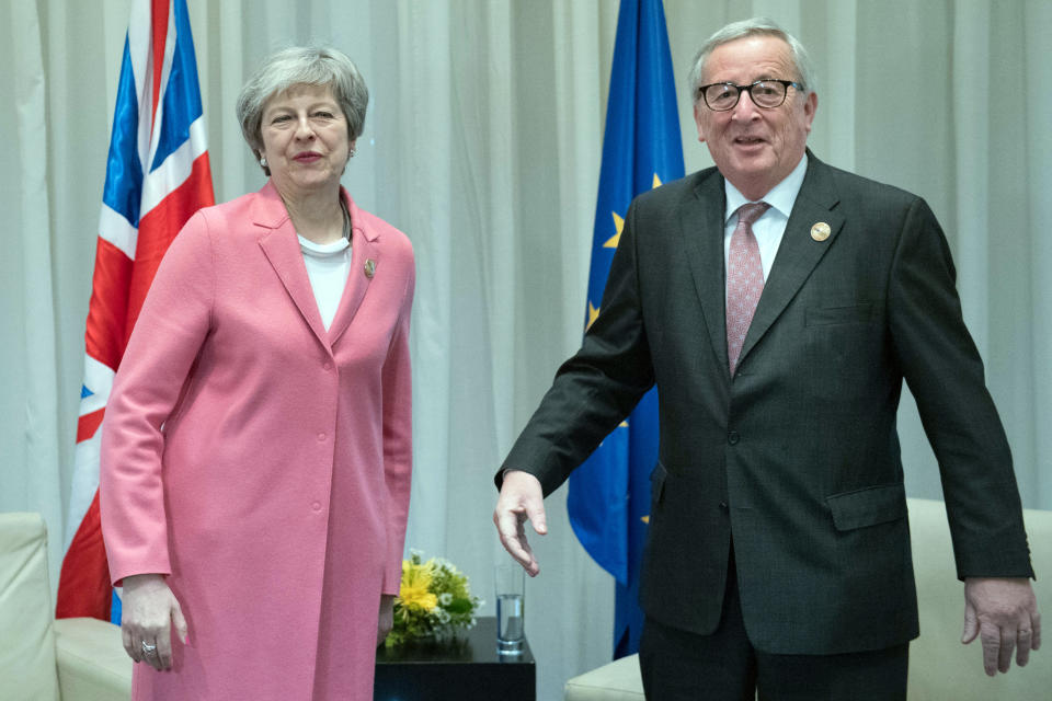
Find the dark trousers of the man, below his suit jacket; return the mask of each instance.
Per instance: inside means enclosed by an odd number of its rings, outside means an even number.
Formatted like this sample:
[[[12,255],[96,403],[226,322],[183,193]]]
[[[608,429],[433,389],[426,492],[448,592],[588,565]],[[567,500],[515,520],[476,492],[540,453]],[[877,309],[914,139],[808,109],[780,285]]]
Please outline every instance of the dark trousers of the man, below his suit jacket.
[[[639,644],[651,701],[896,701],[906,698],[908,643],[839,655],[771,655],[745,634],[731,558],[720,625],[711,635],[647,618]]]

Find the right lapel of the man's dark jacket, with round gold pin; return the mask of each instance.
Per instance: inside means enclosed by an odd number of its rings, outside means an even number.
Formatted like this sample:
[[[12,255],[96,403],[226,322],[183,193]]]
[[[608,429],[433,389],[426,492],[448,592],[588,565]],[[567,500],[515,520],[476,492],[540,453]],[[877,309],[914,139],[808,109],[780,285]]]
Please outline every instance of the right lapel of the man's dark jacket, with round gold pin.
[[[811,275],[822,256],[836,240],[844,226],[844,217],[834,210],[838,202],[830,177],[828,166],[808,152],[808,174],[792,207],[786,232],[781,238],[775,264],[770,268],[753,323],[745,335],[739,364],[756,346],[770,325]],[[824,241],[811,238],[811,227],[824,221],[830,225],[830,237]],[[724,331],[725,334],[725,331]]]

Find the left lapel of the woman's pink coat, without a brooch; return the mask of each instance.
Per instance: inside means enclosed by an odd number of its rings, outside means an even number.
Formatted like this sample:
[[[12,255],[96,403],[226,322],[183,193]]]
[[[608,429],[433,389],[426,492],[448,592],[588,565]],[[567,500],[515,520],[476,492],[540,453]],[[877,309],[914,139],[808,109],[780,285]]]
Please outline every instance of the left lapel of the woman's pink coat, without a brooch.
[[[260,248],[277,274],[285,291],[291,298],[296,309],[321,344],[329,348],[329,337],[321,322],[318,301],[307,277],[304,254],[299,249],[296,230],[288,218],[285,204],[270,182],[260,191],[260,197],[253,205],[252,220],[258,227],[266,229],[260,237]]]

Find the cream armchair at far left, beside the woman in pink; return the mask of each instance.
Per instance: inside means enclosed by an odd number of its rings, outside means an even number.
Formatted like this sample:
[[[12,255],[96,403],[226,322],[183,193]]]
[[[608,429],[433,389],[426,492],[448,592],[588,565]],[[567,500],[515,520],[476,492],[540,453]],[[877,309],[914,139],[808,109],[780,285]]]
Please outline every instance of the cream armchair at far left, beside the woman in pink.
[[[38,514],[0,514],[0,696],[5,701],[117,701],[132,696],[121,629],[55,620],[47,530]]]

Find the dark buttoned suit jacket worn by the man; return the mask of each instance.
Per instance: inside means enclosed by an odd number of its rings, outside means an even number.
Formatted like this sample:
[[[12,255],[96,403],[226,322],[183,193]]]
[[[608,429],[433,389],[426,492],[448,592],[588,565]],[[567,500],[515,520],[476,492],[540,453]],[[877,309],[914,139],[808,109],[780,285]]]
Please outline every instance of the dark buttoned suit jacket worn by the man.
[[[656,382],[643,609],[712,632],[733,536],[750,639],[780,654],[918,634],[895,432],[904,378],[939,461],[959,575],[1032,575],[1011,456],[935,216],[809,158],[735,377],[723,177],[709,169],[632,203],[599,317],[502,468],[535,474],[547,495]],[[832,234],[815,241],[822,221]]]

